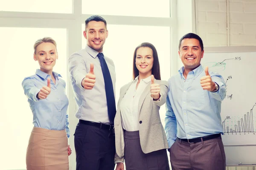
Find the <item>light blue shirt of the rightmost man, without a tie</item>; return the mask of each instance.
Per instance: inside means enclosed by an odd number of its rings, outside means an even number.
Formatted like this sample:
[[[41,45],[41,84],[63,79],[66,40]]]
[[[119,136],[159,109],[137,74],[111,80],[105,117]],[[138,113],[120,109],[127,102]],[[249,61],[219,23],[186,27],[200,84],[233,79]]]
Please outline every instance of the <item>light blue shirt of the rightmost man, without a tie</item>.
[[[219,85],[217,92],[203,90],[200,78],[205,76],[202,65],[190,71],[186,79],[184,67],[169,79],[166,101],[165,131],[169,147],[176,140],[194,139],[216,133],[223,134],[221,125],[221,101],[226,96],[226,85],[221,75],[209,71],[213,82]]]

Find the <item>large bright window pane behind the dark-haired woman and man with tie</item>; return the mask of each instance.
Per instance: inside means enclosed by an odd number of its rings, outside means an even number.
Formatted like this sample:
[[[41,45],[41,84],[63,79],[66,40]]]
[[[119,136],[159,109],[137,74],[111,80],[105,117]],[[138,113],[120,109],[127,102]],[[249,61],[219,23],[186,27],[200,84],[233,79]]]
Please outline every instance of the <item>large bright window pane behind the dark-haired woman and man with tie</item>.
[[[84,24],[82,25],[84,30]],[[161,30],[161,34],[156,34]],[[162,26],[123,26],[108,25],[108,38],[104,45],[104,53],[113,59],[116,68],[116,103],[119,90],[132,79],[133,54],[142,42],[150,42],[157,49],[160,62],[161,79],[170,77],[170,27]],[[86,40],[82,37],[82,48]],[[160,108],[160,117],[164,125],[165,106]]]

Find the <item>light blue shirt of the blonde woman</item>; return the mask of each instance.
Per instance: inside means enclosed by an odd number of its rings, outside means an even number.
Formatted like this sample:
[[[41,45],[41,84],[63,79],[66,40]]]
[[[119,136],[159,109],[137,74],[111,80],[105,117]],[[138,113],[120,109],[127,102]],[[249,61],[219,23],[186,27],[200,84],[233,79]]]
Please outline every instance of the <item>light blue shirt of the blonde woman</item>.
[[[67,137],[69,137],[66,83],[63,79],[60,79],[60,74],[56,72],[52,74],[56,82],[54,84],[51,79],[51,93],[46,99],[38,99],[36,95],[43,86],[47,86],[47,79],[51,78],[51,75],[38,69],[35,75],[26,77],[23,80],[22,87],[28,97],[29,106],[33,113],[34,126],[49,130],[66,129]]]

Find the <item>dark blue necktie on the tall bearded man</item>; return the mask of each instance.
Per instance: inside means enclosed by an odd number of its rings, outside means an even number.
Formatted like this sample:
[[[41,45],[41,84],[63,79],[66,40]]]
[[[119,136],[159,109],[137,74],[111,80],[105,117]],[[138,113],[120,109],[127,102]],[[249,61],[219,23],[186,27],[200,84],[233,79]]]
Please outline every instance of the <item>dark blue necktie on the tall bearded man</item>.
[[[102,73],[105,82],[105,91],[107,97],[107,105],[108,105],[108,118],[110,120],[111,125],[114,123],[114,118],[116,115],[116,102],[113,91],[113,83],[111,79],[110,72],[108,70],[108,65],[102,53],[97,55],[99,57],[99,62],[102,67]]]

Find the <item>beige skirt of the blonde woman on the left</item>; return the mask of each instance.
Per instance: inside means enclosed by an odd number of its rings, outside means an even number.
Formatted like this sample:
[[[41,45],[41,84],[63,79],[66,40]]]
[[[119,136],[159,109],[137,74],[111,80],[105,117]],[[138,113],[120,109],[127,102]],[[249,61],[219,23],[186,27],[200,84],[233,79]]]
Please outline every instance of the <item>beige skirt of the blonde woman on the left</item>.
[[[26,152],[27,170],[68,170],[66,130],[33,127]]]

